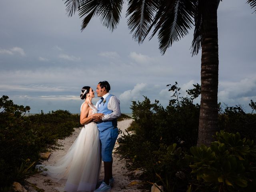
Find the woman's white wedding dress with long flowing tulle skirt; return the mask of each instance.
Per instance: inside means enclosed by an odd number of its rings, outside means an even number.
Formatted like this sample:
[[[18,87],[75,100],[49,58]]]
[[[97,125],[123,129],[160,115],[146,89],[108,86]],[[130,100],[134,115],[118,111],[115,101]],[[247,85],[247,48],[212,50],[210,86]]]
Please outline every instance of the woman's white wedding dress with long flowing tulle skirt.
[[[97,113],[95,106],[88,105],[91,108],[89,115]],[[55,178],[56,182],[66,183],[59,191],[91,192],[95,190],[100,174],[100,150],[99,131],[96,123],[91,122],[84,125],[67,154],[56,164],[37,168],[46,168],[47,175]]]

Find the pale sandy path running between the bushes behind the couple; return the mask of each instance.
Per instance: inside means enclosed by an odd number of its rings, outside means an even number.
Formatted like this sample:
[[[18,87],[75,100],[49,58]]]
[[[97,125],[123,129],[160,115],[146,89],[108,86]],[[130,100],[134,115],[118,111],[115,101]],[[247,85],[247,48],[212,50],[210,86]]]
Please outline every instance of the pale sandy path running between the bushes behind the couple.
[[[120,128],[123,132],[130,126],[132,123],[132,119],[127,119],[118,122],[118,128]],[[63,145],[61,148],[63,150],[55,150],[51,152],[50,158],[42,162],[45,165],[53,165],[56,160],[66,154],[66,151],[70,148],[76,137],[80,132],[80,128],[75,128],[74,133],[65,138],[64,140],[59,140],[58,143]],[[120,137],[120,135],[118,135]],[[116,143],[117,146],[117,143]],[[128,178],[128,174],[130,172],[125,168],[125,160],[120,160],[119,154],[113,154],[113,176],[115,178],[114,187],[111,189],[111,192],[142,192],[142,190],[138,190],[135,186],[128,186],[134,180],[130,180]],[[100,179],[104,178],[104,167],[102,163],[102,169],[100,173]],[[58,192],[55,188],[60,187],[61,184],[53,182],[50,177],[43,176],[41,174],[36,174],[28,179],[29,182],[35,184],[38,188],[44,189],[45,192]],[[36,192],[36,190],[32,187],[28,188],[28,192]]]

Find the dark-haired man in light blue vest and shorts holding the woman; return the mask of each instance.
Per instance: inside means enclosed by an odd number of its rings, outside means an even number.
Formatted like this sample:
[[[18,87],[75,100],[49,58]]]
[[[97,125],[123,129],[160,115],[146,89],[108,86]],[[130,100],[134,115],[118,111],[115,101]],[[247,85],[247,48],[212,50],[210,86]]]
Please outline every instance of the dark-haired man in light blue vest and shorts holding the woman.
[[[97,122],[100,131],[101,155],[104,162],[104,181],[100,187],[94,192],[106,192],[111,189],[111,184],[114,182],[112,176],[112,151],[118,136],[117,120],[121,116],[120,101],[116,96],[109,93],[110,84],[107,81],[99,82],[96,88],[98,97],[101,97],[97,102],[96,107],[98,113],[103,113],[104,116],[94,117],[94,122]]]

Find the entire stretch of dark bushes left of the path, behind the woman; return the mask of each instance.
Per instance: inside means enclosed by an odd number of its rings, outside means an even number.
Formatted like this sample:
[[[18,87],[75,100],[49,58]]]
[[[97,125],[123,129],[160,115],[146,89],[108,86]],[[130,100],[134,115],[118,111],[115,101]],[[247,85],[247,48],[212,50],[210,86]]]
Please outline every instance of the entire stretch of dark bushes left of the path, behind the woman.
[[[0,98],[0,186],[21,181],[30,174],[21,172],[24,160],[37,161],[39,152],[56,144],[57,139],[69,136],[80,126],[79,115],[57,110],[48,114],[25,116],[29,106],[18,106],[8,96]],[[22,169],[17,169],[17,168]],[[26,167],[26,166],[25,166]],[[1,190],[2,190],[1,189]]]

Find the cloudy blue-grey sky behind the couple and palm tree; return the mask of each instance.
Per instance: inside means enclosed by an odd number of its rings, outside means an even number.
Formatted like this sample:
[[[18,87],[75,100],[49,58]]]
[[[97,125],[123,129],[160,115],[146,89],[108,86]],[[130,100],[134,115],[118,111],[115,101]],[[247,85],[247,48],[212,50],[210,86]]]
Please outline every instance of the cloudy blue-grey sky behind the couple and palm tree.
[[[125,1],[126,2],[126,1]],[[182,96],[200,84],[201,54],[192,57],[193,29],[164,56],[157,36],[139,45],[132,39],[123,7],[111,32],[93,18],[68,17],[62,0],[0,1],[0,95],[30,106],[30,113],[68,110],[79,113],[83,86],[96,89],[107,80],[122,113],[131,101],[171,99],[167,84],[178,82]],[[246,0],[223,0],[218,8],[219,86],[222,106],[256,102],[256,13]],[[92,100],[96,104],[97,96]],[[200,98],[195,100],[200,103]]]

